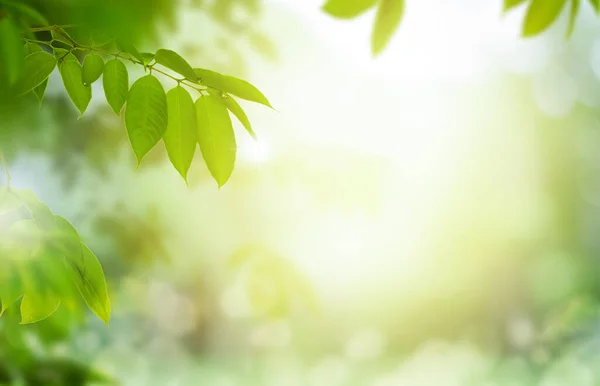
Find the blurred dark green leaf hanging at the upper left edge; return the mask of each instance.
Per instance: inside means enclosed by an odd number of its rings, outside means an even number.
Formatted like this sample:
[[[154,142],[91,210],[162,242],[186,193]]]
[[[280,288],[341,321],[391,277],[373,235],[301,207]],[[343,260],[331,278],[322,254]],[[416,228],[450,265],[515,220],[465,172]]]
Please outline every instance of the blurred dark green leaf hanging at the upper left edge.
[[[23,63],[23,39],[19,27],[10,18],[0,19],[0,68],[6,71],[9,84],[14,84],[19,75]]]

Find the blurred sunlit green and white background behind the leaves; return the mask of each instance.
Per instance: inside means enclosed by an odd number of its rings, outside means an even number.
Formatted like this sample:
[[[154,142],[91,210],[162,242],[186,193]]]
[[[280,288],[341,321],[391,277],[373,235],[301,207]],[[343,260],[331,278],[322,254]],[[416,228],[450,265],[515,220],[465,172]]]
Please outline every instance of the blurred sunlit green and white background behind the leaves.
[[[28,3],[245,77],[277,111],[245,106],[259,139],[218,190],[162,146],[136,170],[99,84],[80,120],[56,73],[41,107],[4,101],[13,185],[77,227],[113,314],[3,316],[0,384],[600,384],[587,2],[571,39],[565,13],[525,40],[523,7],[409,1],[376,59],[373,13],[320,0]]]

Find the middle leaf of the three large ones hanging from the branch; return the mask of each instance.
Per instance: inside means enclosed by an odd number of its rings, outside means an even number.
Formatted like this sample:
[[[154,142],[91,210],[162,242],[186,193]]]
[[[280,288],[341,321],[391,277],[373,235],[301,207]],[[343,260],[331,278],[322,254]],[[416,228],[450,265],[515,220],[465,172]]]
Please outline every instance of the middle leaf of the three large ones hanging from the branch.
[[[196,109],[190,94],[181,86],[167,93],[169,124],[163,136],[171,163],[187,182],[187,172],[196,151]]]

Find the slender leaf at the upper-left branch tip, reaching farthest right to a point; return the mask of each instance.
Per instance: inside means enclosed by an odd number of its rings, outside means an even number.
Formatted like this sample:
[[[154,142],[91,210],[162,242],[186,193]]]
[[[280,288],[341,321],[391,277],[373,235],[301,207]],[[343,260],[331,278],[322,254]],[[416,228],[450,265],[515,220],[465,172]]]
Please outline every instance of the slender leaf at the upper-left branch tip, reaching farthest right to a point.
[[[194,72],[198,76],[200,83],[206,86],[273,108],[267,97],[265,97],[259,89],[245,80],[229,75],[222,75],[218,72],[206,70],[204,68],[194,68]]]

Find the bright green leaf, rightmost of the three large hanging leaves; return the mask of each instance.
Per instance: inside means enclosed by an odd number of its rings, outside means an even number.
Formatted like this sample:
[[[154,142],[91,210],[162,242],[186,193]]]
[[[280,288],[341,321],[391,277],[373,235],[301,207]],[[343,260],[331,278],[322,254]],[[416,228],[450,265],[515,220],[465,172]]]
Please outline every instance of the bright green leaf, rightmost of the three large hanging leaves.
[[[235,165],[236,143],[227,107],[217,97],[196,101],[198,143],[202,157],[219,188],[227,182]]]

